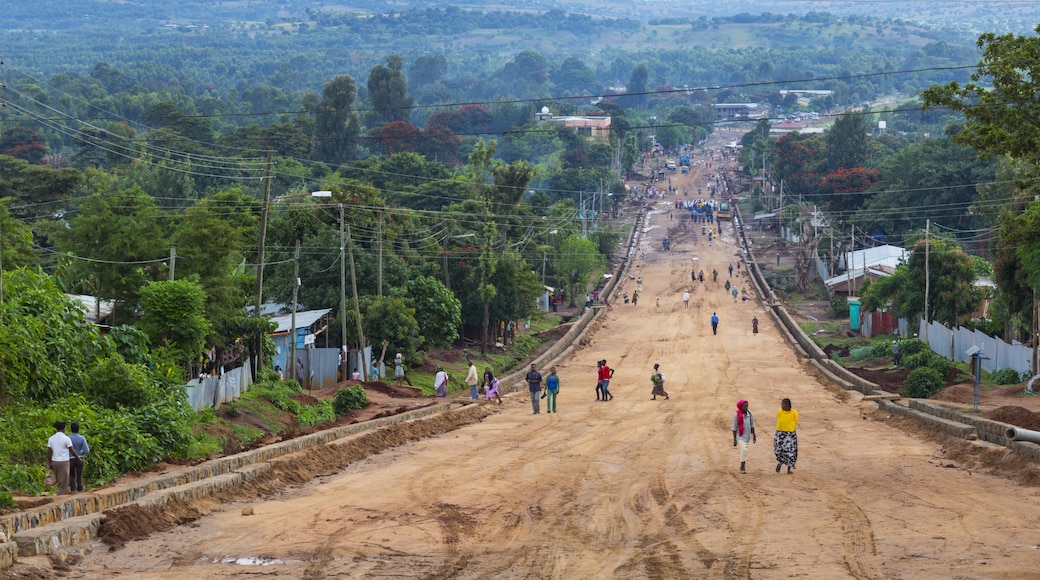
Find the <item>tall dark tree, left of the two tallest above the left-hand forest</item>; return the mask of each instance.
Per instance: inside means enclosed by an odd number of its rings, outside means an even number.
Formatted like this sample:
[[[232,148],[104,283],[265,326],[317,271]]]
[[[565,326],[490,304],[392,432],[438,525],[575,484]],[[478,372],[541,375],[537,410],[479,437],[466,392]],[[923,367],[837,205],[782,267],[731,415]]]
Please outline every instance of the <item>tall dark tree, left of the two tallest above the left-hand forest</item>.
[[[361,123],[354,111],[358,93],[349,75],[327,82],[317,104],[314,121],[314,156],[331,165],[355,158],[354,148],[361,133]]]

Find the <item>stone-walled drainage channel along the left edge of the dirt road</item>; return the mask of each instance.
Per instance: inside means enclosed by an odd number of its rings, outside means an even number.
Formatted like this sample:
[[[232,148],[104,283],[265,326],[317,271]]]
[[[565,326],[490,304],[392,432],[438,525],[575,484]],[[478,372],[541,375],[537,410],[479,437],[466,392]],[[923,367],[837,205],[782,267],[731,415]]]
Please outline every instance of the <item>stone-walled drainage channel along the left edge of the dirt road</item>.
[[[625,257],[615,268],[612,280],[604,286],[603,296],[609,296],[618,280],[627,272],[645,215],[646,213],[641,211],[636,216],[635,226],[626,240]],[[579,340],[589,324],[602,314],[603,311],[595,310],[582,316],[561,340],[536,359],[535,363],[544,367],[568,355],[571,345]],[[521,387],[525,387],[523,384],[525,371],[526,369],[520,369],[502,377],[503,393],[517,392]],[[495,412],[485,404],[468,402],[427,406],[392,417],[298,437],[138,481],[115,484],[97,492],[66,496],[62,501],[46,506],[8,513],[0,518],[0,570],[12,566],[19,557],[58,555],[71,547],[93,542],[101,531],[105,511],[118,511],[127,506],[161,510],[171,502],[190,502],[233,491],[238,486],[253,485],[264,479],[277,478],[279,464],[291,465],[293,455],[318,453],[322,447],[348,445],[352,440],[366,436],[379,440],[378,443],[368,446],[378,452],[420,437],[447,432],[480,421]],[[422,428],[411,430],[418,431],[421,436],[408,432],[410,430],[404,428],[406,425],[417,426],[423,423],[425,425]],[[344,453],[339,458],[340,462],[335,459],[330,462],[328,457],[322,457],[328,464],[329,472],[342,469],[359,457],[355,452]],[[282,471],[284,473],[285,470]]]

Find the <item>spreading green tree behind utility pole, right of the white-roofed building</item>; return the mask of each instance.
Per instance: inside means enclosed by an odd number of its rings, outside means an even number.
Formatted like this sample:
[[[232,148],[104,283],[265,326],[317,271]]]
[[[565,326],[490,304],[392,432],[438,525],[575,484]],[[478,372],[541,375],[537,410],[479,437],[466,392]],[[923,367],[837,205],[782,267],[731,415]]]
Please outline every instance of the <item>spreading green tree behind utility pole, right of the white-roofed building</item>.
[[[928,254],[929,310],[925,312],[925,255]],[[918,239],[906,264],[895,273],[879,278],[863,293],[863,308],[886,307],[901,318],[938,320],[954,327],[979,302],[974,291],[974,265],[960,247],[941,238]]]

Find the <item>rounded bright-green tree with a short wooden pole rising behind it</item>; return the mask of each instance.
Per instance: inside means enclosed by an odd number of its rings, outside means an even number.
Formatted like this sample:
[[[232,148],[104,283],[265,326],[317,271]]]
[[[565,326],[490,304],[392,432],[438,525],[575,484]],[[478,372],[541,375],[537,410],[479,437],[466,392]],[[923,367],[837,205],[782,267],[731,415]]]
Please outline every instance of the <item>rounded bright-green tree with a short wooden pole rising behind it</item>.
[[[202,352],[210,332],[202,287],[187,280],[150,282],[140,289],[140,327],[153,344],[185,366]]]

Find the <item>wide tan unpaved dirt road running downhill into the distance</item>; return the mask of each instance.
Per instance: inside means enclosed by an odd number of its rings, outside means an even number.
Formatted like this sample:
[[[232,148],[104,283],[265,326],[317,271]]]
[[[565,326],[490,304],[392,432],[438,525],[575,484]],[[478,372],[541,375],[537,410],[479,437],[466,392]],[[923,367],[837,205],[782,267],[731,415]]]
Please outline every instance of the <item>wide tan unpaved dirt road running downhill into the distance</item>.
[[[697,169],[674,179],[696,190]],[[639,305],[615,305],[558,365],[557,414],[511,396],[479,423],[99,546],[67,577],[1037,578],[1038,487],[813,378],[756,301],[722,289],[736,264],[728,223],[708,247],[670,208],[656,205],[632,270]],[[719,283],[692,284],[695,264]],[[617,369],[609,402],[594,400],[599,359]],[[650,399],[654,363],[670,400]],[[782,397],[801,418],[792,475],[774,472]],[[758,424],[746,475],[730,432],[742,398]]]

